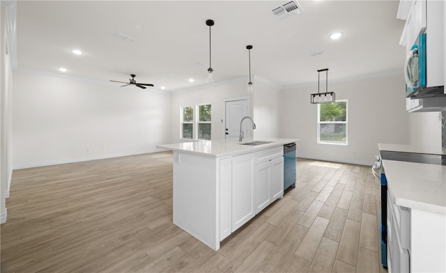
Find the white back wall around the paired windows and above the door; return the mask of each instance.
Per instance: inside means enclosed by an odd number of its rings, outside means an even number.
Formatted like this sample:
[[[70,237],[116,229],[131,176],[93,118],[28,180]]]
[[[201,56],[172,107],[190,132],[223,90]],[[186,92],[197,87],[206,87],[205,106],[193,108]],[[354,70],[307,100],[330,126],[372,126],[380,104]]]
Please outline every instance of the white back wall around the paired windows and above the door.
[[[210,127],[211,140],[224,139],[225,99],[247,96],[246,81],[234,80],[224,84],[213,84],[193,90],[178,91],[172,94],[171,104],[171,140],[180,142],[180,109],[196,104],[212,105],[212,121]],[[163,143],[169,143],[164,141]]]

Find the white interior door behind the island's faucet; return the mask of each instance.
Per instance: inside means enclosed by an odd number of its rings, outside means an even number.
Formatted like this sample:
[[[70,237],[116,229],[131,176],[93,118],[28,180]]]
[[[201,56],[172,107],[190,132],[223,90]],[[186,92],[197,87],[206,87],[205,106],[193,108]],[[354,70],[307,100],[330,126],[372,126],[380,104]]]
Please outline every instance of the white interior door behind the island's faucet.
[[[238,138],[240,136],[240,120],[244,116],[248,116],[248,101],[247,100],[231,100],[226,102],[226,118],[225,118],[225,139]],[[243,123],[243,133],[248,137],[248,125]]]

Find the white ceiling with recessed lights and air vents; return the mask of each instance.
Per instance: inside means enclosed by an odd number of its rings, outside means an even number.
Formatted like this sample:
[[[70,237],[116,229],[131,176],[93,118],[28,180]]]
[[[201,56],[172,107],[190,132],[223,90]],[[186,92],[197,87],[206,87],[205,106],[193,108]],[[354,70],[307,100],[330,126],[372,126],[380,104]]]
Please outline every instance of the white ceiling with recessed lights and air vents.
[[[252,75],[284,88],[317,81],[322,68],[330,69],[329,82],[402,70],[398,1],[301,0],[303,13],[277,20],[270,10],[286,2],[17,1],[17,64],[54,73],[65,67],[66,75],[99,81],[136,74],[157,90],[192,88],[206,81],[205,22],[213,19],[215,82],[247,79],[246,45],[254,46]],[[344,36],[331,40],[333,32]],[[134,40],[118,40],[116,33]],[[314,50],[325,54],[309,56]]]

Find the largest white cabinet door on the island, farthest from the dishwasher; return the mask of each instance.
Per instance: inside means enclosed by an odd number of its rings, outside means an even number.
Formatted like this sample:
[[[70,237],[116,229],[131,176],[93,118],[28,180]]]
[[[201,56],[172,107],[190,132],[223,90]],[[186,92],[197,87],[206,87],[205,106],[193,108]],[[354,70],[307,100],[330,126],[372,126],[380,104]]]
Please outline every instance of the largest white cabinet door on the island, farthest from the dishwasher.
[[[254,217],[254,154],[232,158],[232,231]]]

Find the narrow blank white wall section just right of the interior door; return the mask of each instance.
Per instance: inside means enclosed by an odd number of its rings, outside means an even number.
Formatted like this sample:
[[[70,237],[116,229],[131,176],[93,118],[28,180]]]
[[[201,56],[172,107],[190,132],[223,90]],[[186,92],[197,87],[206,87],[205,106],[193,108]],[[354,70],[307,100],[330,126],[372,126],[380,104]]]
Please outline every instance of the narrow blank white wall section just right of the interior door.
[[[254,139],[279,137],[280,91],[259,77],[254,77]]]

